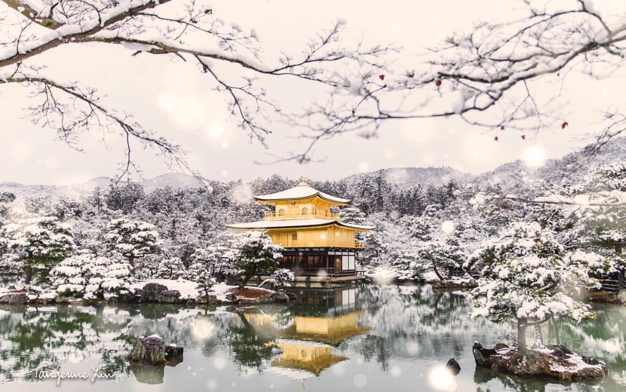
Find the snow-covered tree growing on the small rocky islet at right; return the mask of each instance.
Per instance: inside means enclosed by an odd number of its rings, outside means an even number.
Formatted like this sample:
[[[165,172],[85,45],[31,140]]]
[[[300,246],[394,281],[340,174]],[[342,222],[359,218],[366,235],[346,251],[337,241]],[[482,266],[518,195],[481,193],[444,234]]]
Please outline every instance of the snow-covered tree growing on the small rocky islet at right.
[[[527,327],[552,317],[593,317],[590,306],[576,298],[582,287],[599,286],[591,272],[608,267],[595,253],[565,253],[554,233],[538,223],[511,225],[475,256],[483,277],[472,291],[474,315],[492,316],[495,322],[515,318],[520,352],[526,350]]]

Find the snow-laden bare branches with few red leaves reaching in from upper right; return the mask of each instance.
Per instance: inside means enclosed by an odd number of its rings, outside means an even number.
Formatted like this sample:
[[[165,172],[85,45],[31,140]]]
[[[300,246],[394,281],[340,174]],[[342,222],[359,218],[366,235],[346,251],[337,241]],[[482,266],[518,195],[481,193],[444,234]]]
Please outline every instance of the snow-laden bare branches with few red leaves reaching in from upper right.
[[[396,61],[398,67],[391,74],[346,83],[326,104],[314,108],[319,123],[303,122],[314,132],[300,161],[310,158],[325,135],[355,129],[370,134],[381,122],[401,119],[458,115],[491,130],[496,140],[513,130],[520,143],[526,132],[549,126],[566,129],[560,107],[567,107],[567,96],[576,93],[570,88],[570,94],[562,94],[549,86],[567,85],[566,75],[576,73],[607,77],[623,65],[626,24],[618,17],[625,11],[623,3],[526,0],[511,4],[515,16],[504,13],[478,20],[465,31],[449,34],[439,45],[433,43],[419,61]],[[577,82],[571,82],[576,87]],[[357,110],[338,114],[337,103]],[[619,109],[610,109],[599,120],[603,124],[595,147],[625,129],[626,116]]]

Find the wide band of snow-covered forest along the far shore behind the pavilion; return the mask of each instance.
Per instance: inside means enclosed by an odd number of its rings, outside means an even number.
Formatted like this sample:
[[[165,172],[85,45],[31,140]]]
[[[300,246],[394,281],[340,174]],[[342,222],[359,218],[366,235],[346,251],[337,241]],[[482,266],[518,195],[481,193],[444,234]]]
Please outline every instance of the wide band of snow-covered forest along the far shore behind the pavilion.
[[[510,307],[505,302],[513,298],[496,300],[493,293],[510,291],[511,285],[543,299],[557,298],[566,286],[570,294],[598,287],[595,278],[607,274],[623,287],[625,161],[598,162],[523,197],[480,176],[444,178],[398,186],[381,170],[340,181],[310,181],[310,186],[352,200],[341,209],[342,220],[376,226],[359,234],[366,243],[360,268],[382,268],[400,278],[434,273],[440,280],[451,272],[469,272],[480,277],[475,295],[483,312]],[[258,260],[252,267],[242,262],[242,248],[248,245],[225,225],[262,219],[269,207],[251,196],[296,184],[274,175],[251,183],[209,181],[198,188],[166,186],[149,193],[138,183],[126,183],[95,188],[78,199],[16,198],[4,192],[0,267],[23,275],[31,292],[51,288],[85,299],[110,297],[133,280],[148,278],[185,278],[208,292],[216,278],[245,272],[247,280],[278,266],[279,249],[270,252],[263,268]],[[550,309],[554,301],[528,301],[535,304],[524,310],[531,319],[561,311]],[[572,304],[567,312],[576,309]],[[575,318],[582,315],[581,310]]]

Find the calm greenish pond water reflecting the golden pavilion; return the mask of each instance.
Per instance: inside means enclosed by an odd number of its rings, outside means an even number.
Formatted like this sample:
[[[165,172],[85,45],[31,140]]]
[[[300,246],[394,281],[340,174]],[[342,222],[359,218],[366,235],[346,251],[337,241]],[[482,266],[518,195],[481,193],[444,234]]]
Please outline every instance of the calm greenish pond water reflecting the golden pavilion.
[[[597,320],[545,326],[545,341],[555,341],[556,330],[566,346],[608,363],[607,377],[567,384],[476,369],[473,342],[512,342],[515,325],[471,319],[466,292],[429,285],[296,290],[291,307],[0,307],[0,390],[626,390],[622,305],[595,304]],[[183,346],[183,362],[130,366],[134,339],[151,334]],[[461,366],[457,376],[441,371],[451,357]],[[56,371],[86,378],[59,385],[39,378]]]

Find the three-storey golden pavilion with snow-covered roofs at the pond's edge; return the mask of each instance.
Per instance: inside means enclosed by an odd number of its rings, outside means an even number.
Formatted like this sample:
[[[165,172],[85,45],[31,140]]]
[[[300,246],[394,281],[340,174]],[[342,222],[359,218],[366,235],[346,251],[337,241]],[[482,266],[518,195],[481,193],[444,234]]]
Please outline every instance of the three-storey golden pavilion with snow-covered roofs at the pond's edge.
[[[289,268],[295,275],[355,275],[355,256],[364,243],[355,233],[374,226],[343,223],[333,206],[346,206],[349,199],[337,198],[311,188],[306,177],[294,188],[272,194],[254,196],[272,207],[262,221],[227,225],[233,230],[266,230],[272,241],[285,250],[280,268]]]

